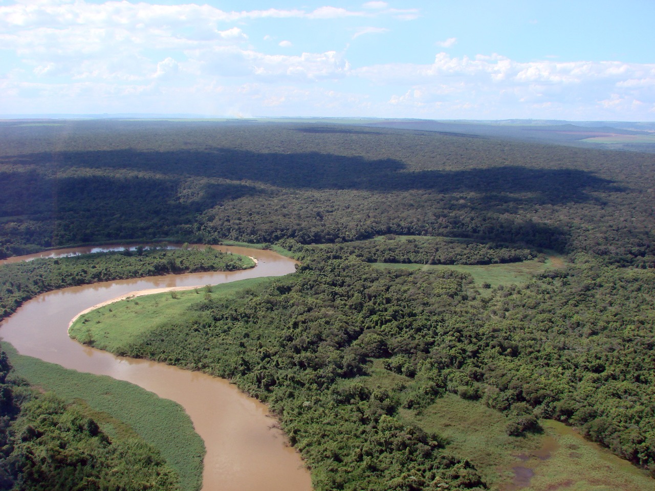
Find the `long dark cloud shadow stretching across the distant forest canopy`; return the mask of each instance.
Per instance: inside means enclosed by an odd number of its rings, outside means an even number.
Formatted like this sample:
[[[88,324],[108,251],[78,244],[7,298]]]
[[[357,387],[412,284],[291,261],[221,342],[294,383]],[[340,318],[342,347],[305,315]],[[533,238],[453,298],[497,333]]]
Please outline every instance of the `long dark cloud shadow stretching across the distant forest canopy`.
[[[115,172],[116,178],[121,178],[120,171],[129,170],[154,173],[176,180],[208,177],[240,181],[239,185],[243,189],[234,190],[234,194],[226,196],[227,199],[256,194],[257,183],[299,190],[434,191],[439,194],[476,192],[485,196],[489,204],[496,201],[540,204],[599,202],[591,192],[624,191],[608,179],[571,168],[507,165],[409,172],[403,162],[391,158],[367,160],[362,156],[318,152],[284,154],[234,149],[168,152],[120,150],[33,154],[14,158],[15,164],[44,162],[57,170],[67,169],[69,174],[72,168],[102,169],[105,175],[109,170]]]

